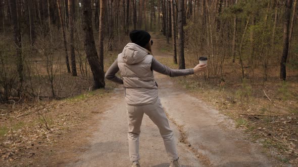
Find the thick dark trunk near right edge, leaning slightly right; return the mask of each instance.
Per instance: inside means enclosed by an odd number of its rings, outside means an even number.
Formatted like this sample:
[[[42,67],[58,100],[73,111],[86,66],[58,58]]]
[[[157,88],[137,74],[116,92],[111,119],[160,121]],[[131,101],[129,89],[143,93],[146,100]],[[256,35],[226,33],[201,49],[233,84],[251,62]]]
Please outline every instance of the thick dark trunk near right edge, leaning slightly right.
[[[291,16],[292,0],[286,1],[286,8],[284,11],[284,22],[283,22],[283,49],[280,61],[280,79],[286,79],[286,59],[289,48],[289,24]]]

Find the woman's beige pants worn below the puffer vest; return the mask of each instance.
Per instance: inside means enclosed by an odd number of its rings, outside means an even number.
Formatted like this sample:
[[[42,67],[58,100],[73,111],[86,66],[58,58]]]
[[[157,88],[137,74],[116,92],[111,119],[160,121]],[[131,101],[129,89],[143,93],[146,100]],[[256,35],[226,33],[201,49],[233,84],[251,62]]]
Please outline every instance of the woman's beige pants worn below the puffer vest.
[[[131,161],[139,160],[139,135],[144,113],[157,125],[160,134],[164,139],[164,144],[168,157],[171,161],[178,158],[176,143],[173,131],[169,126],[169,121],[158,98],[155,104],[130,106],[126,105],[128,116],[128,146]]]

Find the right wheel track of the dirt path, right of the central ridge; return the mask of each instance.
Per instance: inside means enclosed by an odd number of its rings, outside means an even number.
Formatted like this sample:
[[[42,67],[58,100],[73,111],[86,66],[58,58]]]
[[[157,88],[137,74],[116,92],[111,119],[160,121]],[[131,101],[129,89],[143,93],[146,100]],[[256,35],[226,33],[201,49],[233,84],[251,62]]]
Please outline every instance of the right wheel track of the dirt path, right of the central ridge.
[[[172,121],[183,127],[187,143],[213,166],[271,166],[258,145],[235,129],[233,121],[157,74],[161,102]]]

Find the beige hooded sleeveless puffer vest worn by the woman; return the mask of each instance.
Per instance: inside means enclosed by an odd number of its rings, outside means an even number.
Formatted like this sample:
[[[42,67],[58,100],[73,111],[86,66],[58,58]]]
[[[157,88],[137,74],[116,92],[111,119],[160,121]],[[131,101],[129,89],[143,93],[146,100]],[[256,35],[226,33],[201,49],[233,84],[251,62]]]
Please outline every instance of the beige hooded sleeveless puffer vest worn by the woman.
[[[118,67],[128,105],[154,104],[158,99],[158,89],[151,70],[152,58],[148,50],[134,43],[128,43],[118,55]]]

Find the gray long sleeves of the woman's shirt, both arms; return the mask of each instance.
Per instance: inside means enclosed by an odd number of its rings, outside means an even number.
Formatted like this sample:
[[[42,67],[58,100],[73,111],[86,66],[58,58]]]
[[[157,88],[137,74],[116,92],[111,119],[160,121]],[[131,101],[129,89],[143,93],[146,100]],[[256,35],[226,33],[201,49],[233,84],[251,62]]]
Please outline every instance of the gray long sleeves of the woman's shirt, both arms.
[[[157,59],[153,57],[152,63],[151,63],[151,70],[155,70],[156,72],[169,75],[171,77],[174,76],[183,76],[183,75],[190,75],[193,74],[193,68],[188,69],[171,69],[170,67],[160,63]],[[118,84],[123,84],[123,80],[116,76],[116,73],[119,71],[118,67],[118,61],[117,59],[114,61],[114,63],[110,66],[108,71],[106,72],[105,78],[114,81]]]

